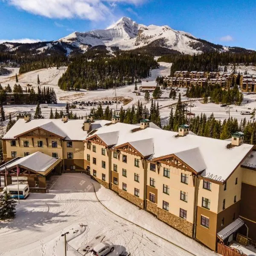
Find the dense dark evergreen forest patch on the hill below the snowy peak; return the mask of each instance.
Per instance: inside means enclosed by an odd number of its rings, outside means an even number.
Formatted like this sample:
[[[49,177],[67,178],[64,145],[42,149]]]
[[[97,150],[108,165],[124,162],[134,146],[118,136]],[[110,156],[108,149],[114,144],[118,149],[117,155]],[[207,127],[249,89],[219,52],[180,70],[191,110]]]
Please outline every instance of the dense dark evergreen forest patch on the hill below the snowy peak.
[[[115,56],[87,60],[79,55],[73,58],[67,72],[58,81],[62,90],[96,90],[132,84],[136,79],[150,76],[150,70],[159,64],[153,56],[116,52]]]

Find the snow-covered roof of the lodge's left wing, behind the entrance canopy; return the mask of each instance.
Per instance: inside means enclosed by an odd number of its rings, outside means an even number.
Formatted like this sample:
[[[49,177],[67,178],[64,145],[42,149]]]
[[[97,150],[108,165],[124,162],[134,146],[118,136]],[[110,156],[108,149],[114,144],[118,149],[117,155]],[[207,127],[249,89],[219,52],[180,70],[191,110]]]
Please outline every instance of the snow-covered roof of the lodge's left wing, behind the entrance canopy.
[[[92,129],[98,129],[108,122],[107,120],[95,120],[91,127]],[[69,119],[67,122],[63,122],[61,119],[32,119],[29,122],[18,119],[3,139],[15,139],[15,137],[27,131],[42,128],[65,140],[84,140],[87,137],[87,131],[83,130],[83,125],[83,119]]]

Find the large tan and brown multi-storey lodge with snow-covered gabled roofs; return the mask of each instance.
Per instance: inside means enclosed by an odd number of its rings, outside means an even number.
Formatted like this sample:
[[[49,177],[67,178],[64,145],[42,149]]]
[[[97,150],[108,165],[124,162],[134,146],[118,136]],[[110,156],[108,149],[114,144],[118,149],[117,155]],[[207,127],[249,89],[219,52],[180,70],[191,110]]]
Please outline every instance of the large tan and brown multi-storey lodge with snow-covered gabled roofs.
[[[120,123],[119,116],[107,121],[92,116],[32,120],[24,115],[3,137],[3,154],[12,172],[15,164],[10,162],[23,160],[24,176],[36,169],[25,160],[38,151],[54,163],[47,172],[86,172],[216,250],[218,243],[227,244],[238,233],[256,240],[256,205],[251,201],[256,195],[256,151],[243,138],[241,132],[229,141],[201,137],[188,125],[180,125],[178,132],[164,131],[148,119],[130,125]],[[1,180],[3,170],[0,166]],[[32,170],[37,172],[44,175]],[[7,184],[12,182],[9,176]]]

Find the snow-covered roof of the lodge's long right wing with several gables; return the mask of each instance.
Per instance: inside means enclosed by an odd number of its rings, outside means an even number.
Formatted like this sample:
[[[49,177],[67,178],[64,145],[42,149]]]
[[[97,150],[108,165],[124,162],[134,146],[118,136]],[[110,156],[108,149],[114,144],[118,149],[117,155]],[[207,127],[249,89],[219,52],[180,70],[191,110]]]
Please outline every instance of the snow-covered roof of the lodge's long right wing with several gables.
[[[150,156],[151,160],[175,154],[196,172],[203,171],[202,177],[221,182],[229,177],[253,147],[242,143],[228,149],[230,141],[196,136],[191,132],[184,137],[177,137],[177,132],[173,131],[135,128],[138,125],[116,123],[99,128],[93,135],[106,137],[108,145],[112,147],[130,143],[144,157]]]

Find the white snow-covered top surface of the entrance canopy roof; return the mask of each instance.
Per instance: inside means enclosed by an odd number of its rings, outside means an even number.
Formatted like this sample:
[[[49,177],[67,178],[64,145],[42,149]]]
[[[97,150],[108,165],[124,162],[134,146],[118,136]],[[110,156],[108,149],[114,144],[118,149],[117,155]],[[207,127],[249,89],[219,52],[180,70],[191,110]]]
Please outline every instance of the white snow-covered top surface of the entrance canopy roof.
[[[45,172],[50,166],[58,161],[58,158],[50,157],[42,152],[35,152],[26,157],[17,157],[8,163],[6,168],[12,168],[17,165],[24,166],[36,172]],[[0,171],[5,170],[5,165],[0,166]]]

